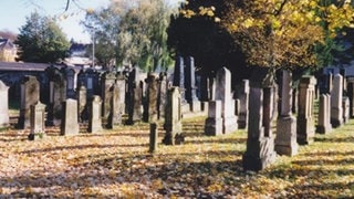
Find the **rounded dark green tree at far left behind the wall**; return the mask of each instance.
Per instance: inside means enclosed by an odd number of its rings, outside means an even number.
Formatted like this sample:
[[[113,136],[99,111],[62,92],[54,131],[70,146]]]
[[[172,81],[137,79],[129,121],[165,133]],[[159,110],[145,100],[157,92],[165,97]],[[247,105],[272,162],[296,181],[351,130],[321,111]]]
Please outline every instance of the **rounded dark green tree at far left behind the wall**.
[[[20,48],[18,60],[37,63],[54,63],[64,59],[70,46],[60,27],[38,12],[27,18],[15,44]]]

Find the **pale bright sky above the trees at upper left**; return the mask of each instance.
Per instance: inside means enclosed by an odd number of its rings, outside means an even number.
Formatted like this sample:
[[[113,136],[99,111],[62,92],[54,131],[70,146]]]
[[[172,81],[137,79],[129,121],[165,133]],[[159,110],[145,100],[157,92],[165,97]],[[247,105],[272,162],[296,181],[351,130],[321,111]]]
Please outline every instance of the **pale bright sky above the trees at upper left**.
[[[168,0],[177,3],[179,0]],[[110,0],[71,0],[70,9],[65,12],[66,0],[1,0],[0,31],[19,33],[25,24],[25,18],[38,11],[41,15],[56,15],[58,24],[66,34],[67,40],[90,43],[88,32],[80,24],[85,19],[86,9],[107,7]]]

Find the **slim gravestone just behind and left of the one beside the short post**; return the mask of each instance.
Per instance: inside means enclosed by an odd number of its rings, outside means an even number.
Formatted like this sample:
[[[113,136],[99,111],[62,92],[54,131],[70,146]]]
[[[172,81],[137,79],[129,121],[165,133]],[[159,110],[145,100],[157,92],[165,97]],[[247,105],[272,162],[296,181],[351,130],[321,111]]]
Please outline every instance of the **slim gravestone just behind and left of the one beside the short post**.
[[[157,118],[165,118],[165,106],[167,104],[167,90],[168,90],[168,80],[166,73],[160,73],[159,75],[159,84],[158,84],[158,96],[157,96]]]

